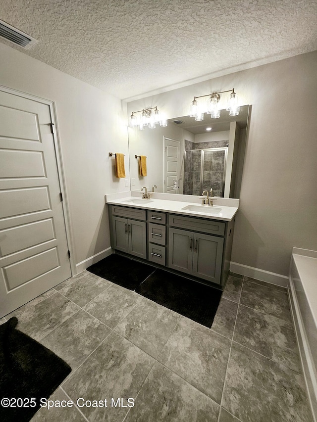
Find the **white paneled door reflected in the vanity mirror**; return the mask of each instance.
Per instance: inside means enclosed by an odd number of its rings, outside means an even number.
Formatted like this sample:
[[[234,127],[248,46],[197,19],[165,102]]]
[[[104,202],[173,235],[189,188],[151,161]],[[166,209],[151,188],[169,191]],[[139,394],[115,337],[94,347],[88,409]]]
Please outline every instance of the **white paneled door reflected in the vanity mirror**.
[[[180,141],[164,138],[164,193],[178,193]],[[173,181],[177,181],[176,187]]]

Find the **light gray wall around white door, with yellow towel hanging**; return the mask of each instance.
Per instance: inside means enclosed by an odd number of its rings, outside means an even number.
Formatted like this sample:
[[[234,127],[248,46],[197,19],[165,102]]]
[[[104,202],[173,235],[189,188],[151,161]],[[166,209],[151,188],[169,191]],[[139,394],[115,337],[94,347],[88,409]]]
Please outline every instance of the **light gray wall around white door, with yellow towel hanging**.
[[[105,193],[128,190],[114,157],[129,153],[121,101],[32,57],[0,44],[0,84],[55,101],[75,264],[110,247]],[[89,265],[89,263],[88,263]],[[85,268],[85,264],[83,264]],[[77,266],[78,271],[83,266]]]

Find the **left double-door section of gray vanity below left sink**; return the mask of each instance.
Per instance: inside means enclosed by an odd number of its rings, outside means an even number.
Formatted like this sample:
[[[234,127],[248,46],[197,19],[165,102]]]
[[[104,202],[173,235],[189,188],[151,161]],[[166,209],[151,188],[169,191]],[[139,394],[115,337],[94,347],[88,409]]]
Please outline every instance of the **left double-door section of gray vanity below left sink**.
[[[128,208],[112,207],[111,214],[110,235],[113,249],[138,258],[147,259],[146,222],[120,217],[120,215],[129,216],[130,209]],[[133,209],[131,210],[131,216],[136,216]],[[145,220],[145,212],[137,215],[137,217]]]

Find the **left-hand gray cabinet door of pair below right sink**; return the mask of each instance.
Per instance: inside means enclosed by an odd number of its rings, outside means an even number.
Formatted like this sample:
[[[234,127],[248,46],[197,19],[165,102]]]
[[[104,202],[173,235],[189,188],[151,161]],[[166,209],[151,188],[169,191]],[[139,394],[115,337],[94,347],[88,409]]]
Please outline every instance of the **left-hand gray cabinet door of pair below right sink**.
[[[168,239],[168,267],[183,273],[192,273],[193,232],[170,229]]]

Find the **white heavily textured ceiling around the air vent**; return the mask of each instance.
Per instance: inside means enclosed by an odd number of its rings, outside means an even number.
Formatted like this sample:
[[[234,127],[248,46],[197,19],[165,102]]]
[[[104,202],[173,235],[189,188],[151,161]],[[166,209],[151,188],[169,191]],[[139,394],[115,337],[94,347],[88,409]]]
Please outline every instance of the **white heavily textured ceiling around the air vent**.
[[[0,19],[121,99],[317,50],[316,0],[0,0]]]

